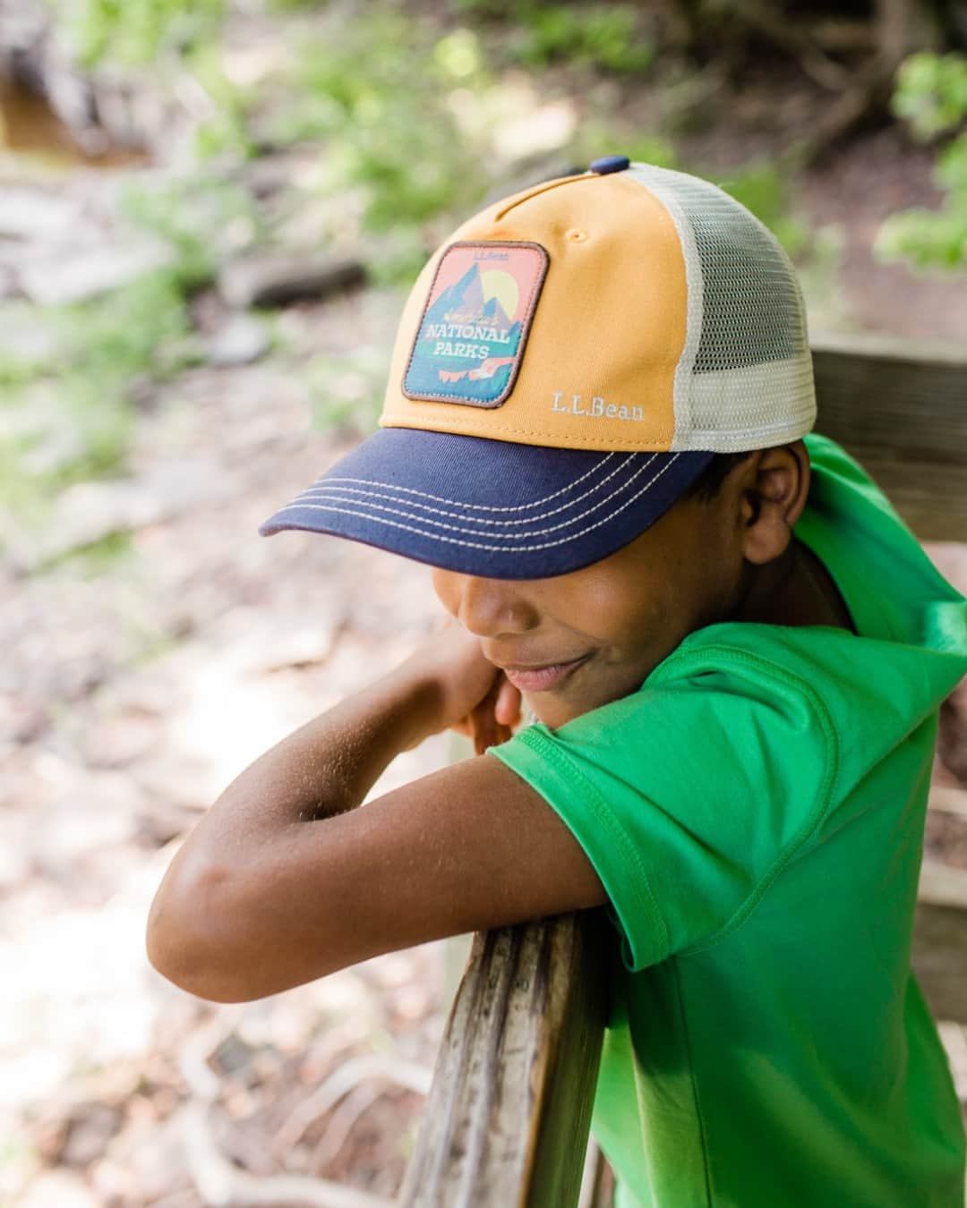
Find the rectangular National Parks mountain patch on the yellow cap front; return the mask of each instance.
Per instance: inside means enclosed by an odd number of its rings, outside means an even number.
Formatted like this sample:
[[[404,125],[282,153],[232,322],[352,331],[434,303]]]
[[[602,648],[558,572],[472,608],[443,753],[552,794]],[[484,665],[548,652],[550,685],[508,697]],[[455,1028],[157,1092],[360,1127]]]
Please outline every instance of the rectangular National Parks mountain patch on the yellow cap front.
[[[407,399],[499,407],[548,272],[539,243],[454,243],[440,257],[403,379]]]

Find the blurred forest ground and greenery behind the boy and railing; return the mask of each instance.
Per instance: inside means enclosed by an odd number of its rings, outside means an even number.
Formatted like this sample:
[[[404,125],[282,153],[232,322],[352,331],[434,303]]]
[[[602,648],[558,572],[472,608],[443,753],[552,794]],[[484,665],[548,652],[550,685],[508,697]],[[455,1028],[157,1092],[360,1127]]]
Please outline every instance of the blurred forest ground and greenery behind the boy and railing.
[[[213,1007],[144,920],[228,780],[435,615],[421,568],[257,524],[375,426],[448,231],[612,152],[757,213],[813,332],[967,339],[957,0],[0,0],[0,1202],[395,1194],[441,949]],[[928,831],[961,867],[965,818]]]

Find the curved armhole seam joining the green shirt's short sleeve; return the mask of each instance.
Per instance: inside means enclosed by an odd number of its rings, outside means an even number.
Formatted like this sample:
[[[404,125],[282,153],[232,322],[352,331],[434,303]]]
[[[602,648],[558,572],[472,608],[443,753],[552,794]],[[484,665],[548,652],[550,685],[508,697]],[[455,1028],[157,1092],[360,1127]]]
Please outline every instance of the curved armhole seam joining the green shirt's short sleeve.
[[[702,646],[702,655],[719,655],[724,656],[726,662],[731,661],[739,664],[747,663],[749,666],[757,667],[759,670],[770,675],[772,679],[781,683],[788,684],[797,687],[801,693],[806,703],[812,708],[816,719],[822,727],[826,743],[823,747],[826,760],[823,767],[823,774],[820,780],[820,785],[816,790],[816,801],[810,811],[806,820],[797,830],[793,837],[780,849],[778,855],[772,861],[772,864],[766,869],[763,876],[757,881],[755,885],[752,888],[749,894],[742,900],[741,905],[735,910],[733,916],[725,922],[718,931],[701,940],[699,943],[689,945],[687,948],[679,948],[674,956],[676,957],[690,957],[699,952],[705,952],[719,943],[722,940],[730,936],[734,931],[737,931],[740,927],[749,918],[755,907],[763,900],[765,894],[769,892],[772,883],[776,881],[778,875],[786,867],[786,865],[792,860],[793,855],[799,852],[811,838],[816,829],[821,825],[823,819],[829,813],[832,805],[832,791],[835,784],[836,776],[839,773],[839,739],[836,736],[835,726],[833,725],[833,719],[829,710],[823,704],[820,696],[813,691],[812,686],[807,680],[797,675],[794,672],[789,672],[787,668],[781,667],[778,663],[772,662],[769,658],[764,658],[762,655],[754,655],[751,651],[742,650],[737,646],[728,646],[723,644],[713,644],[708,646]],[[696,651],[684,650],[681,654],[671,655],[661,664],[662,675],[670,664],[678,664],[685,662],[689,658],[695,658]]]

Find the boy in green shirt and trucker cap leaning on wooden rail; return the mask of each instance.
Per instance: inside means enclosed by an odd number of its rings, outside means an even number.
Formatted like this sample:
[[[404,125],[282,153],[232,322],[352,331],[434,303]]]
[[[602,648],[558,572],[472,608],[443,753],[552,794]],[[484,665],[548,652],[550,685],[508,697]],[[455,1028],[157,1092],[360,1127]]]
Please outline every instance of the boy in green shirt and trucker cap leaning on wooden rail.
[[[961,1208],[909,954],[967,605],[813,419],[792,267],[714,186],[610,156],[467,222],[381,431],[262,527],[429,563],[458,623],[230,785],[157,968],[249,999],[607,904],[620,1203]],[[454,725],[487,755],[355,808]]]

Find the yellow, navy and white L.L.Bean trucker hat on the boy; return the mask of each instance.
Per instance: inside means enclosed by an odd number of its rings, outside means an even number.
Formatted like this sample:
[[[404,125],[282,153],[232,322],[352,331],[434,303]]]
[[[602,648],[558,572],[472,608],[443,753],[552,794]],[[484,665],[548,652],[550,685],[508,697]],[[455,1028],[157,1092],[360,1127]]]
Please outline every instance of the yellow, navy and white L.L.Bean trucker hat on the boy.
[[[775,237],[708,181],[607,156],[487,207],[433,255],[380,430],[259,532],[550,577],[632,541],[716,453],[788,443],[815,417]]]

